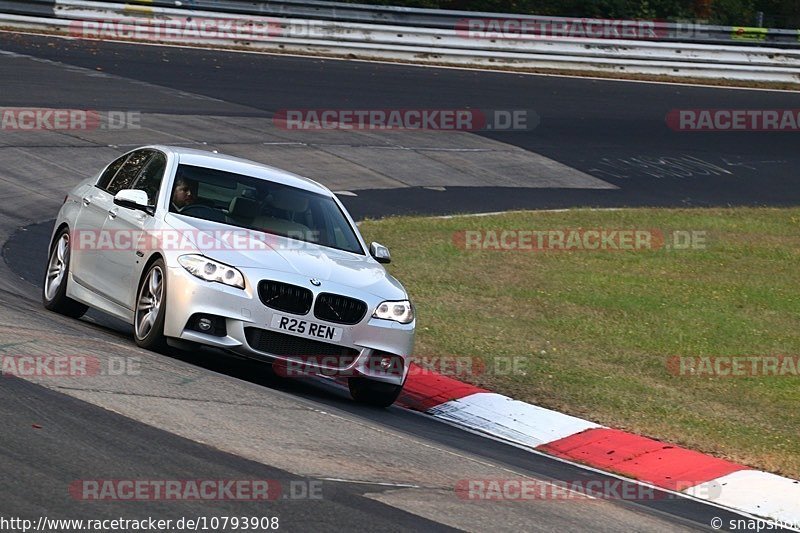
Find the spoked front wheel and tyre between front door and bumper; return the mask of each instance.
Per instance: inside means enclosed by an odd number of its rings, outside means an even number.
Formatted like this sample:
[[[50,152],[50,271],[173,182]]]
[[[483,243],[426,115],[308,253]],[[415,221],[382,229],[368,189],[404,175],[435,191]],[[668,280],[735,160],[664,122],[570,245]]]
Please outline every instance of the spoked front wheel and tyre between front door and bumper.
[[[167,347],[164,319],[167,314],[167,269],[162,259],[148,267],[139,290],[133,312],[133,338],[147,350],[162,351]]]

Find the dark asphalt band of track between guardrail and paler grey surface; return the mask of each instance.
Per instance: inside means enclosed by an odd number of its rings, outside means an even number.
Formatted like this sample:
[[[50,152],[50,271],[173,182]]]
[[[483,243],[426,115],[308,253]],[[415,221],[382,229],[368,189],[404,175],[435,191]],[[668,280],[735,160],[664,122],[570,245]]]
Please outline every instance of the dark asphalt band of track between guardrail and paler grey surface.
[[[240,112],[270,117],[281,109],[533,109],[531,132],[482,134],[542,154],[619,189],[506,191],[455,187],[445,194],[410,188],[404,194],[366,189],[350,203],[363,214],[448,212],[575,205],[788,205],[800,198],[800,154],[793,133],[674,132],[673,109],[797,108],[796,93],[720,90],[614,81],[437,70],[400,65],[324,61],[260,54],[153,48],[43,38],[0,39],[4,50],[97,70],[235,104]],[[9,80],[11,81],[11,80]],[[41,80],[15,79],[4,105],[47,101],[53,107],[163,110],[134,84],[124,92]],[[74,88],[73,88],[74,87]],[[194,103],[171,105],[192,113]],[[203,106],[213,113],[214,106]],[[669,167],[638,161],[697,158],[721,170],[670,176]],[[679,170],[677,173],[685,174]],[[315,177],[315,176],[312,176]],[[436,184],[435,184],[436,185]],[[482,184],[491,187],[492,183]]]

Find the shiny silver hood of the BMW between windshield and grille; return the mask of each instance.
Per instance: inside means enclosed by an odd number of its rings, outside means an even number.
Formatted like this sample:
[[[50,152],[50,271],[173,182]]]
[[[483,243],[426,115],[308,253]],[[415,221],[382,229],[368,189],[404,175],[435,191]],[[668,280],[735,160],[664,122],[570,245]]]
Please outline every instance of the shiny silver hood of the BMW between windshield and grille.
[[[407,298],[400,282],[366,255],[172,213],[165,223],[201,254],[230,266],[299,274],[387,300]]]

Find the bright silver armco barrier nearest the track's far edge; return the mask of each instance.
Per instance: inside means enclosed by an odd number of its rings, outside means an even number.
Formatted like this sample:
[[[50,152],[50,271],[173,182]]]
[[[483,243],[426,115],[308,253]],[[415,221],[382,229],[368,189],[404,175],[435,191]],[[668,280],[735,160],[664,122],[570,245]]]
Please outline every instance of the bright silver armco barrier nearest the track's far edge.
[[[95,24],[104,21],[102,28]],[[244,34],[204,34],[198,21],[236,23]],[[192,26],[194,24],[194,26]],[[680,77],[800,82],[800,49],[649,40],[536,37],[490,39],[455,29],[258,17],[223,12],[56,0],[55,18],[0,14],[0,25],[48,27],[88,38],[135,39],[327,53],[456,65],[625,72]],[[165,27],[178,30],[167,35]],[[194,31],[180,31],[181,27]],[[266,28],[256,31],[254,28]]]

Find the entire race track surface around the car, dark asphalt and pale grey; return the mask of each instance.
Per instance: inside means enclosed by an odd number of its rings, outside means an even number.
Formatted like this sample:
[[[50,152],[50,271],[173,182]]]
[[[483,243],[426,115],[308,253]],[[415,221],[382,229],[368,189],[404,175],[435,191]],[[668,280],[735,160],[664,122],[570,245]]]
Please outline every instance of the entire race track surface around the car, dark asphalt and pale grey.
[[[663,494],[653,501],[463,501],[454,491],[463,479],[608,478],[397,407],[356,405],[334,385],[281,380],[264,365],[213,350],[142,351],[129,328],[102,315],[70,320],[45,312],[39,286],[65,191],[141,144],[272,162],[342,191],[357,217],[794,205],[796,134],[677,133],[664,117],[677,108],[800,108],[796,94],[7,33],[0,33],[0,68],[2,107],[141,117],[141,128],[125,131],[0,131],[0,354],[79,353],[141,366],[118,376],[0,381],[0,516],[278,516],[289,531],[690,531],[710,530],[714,516],[736,517]],[[465,107],[533,109],[541,122],[529,132],[386,134],[289,132],[272,122],[294,108]],[[687,168],[690,175],[675,175]],[[92,479],[270,479],[318,484],[322,498],[200,505],[86,502],[69,492]]]

